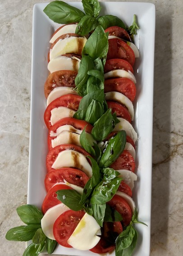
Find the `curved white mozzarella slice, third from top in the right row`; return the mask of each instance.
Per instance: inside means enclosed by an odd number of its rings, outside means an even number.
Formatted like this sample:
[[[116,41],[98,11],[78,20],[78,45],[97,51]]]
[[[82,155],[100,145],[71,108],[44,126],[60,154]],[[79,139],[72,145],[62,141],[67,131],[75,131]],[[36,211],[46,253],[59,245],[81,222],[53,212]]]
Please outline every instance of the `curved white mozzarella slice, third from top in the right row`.
[[[113,100],[127,107],[131,119],[134,118],[134,109],[132,101],[127,96],[117,91],[110,91],[105,93],[105,100]]]

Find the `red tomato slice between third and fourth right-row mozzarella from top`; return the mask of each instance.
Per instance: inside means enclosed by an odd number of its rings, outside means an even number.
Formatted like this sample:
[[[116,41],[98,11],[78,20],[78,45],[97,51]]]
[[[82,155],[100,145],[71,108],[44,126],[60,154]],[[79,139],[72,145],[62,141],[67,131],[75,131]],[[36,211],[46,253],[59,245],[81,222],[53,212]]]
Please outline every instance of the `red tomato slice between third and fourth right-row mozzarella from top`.
[[[128,112],[128,109],[114,101],[107,101],[108,108],[112,110],[112,114],[116,113],[117,117],[126,119],[129,123],[132,123],[131,116]]]

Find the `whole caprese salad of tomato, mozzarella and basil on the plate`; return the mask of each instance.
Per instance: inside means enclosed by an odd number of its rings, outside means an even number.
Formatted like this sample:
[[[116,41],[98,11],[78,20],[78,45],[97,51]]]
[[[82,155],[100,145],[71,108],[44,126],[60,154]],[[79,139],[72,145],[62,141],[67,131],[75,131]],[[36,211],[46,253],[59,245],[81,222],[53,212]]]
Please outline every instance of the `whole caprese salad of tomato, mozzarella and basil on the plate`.
[[[64,25],[50,38],[44,85],[46,196],[41,211],[20,206],[18,215],[27,226],[6,234],[9,240],[32,240],[24,255],[45,248],[50,254],[58,243],[131,256],[137,242],[132,121],[139,52],[132,34],[138,27],[135,16],[130,29],[113,15],[98,17],[97,0],[82,5],[86,14],[62,1],[44,9]]]

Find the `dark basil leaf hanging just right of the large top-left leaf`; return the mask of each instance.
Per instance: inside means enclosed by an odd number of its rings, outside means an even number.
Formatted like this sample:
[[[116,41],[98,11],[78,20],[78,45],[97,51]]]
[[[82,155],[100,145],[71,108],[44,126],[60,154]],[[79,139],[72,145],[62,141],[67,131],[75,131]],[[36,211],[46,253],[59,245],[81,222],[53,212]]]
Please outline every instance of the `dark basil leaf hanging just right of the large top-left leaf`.
[[[82,17],[76,28],[76,34],[85,36],[98,26],[98,20],[91,15]]]

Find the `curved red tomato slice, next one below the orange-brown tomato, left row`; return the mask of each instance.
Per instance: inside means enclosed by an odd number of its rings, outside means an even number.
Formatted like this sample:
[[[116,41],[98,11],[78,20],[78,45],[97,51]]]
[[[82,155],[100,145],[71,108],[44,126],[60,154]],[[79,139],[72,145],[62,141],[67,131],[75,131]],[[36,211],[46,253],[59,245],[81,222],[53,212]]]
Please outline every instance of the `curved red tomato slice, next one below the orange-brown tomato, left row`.
[[[47,128],[49,129],[52,125],[50,123],[51,118],[51,110],[58,108],[58,107],[67,107],[69,109],[78,110],[78,106],[80,103],[80,100],[82,99],[79,95],[74,94],[66,94],[62,95],[59,98],[53,100],[46,108],[44,119]]]

